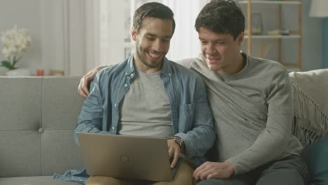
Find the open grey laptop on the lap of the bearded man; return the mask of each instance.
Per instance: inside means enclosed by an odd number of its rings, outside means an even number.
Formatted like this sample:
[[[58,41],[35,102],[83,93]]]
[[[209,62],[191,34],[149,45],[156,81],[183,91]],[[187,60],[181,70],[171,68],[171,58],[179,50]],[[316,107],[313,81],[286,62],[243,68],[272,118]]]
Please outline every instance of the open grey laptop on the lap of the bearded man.
[[[158,137],[77,133],[89,175],[171,181],[168,140]],[[171,172],[172,171],[172,172]]]

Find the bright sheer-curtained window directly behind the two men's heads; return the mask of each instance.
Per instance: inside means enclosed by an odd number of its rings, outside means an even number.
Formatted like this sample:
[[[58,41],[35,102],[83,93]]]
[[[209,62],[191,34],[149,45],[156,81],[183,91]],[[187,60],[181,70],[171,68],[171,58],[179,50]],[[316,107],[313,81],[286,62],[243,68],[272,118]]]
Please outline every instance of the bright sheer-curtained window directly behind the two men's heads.
[[[100,1],[100,64],[116,64],[132,55],[134,43],[130,39],[130,30],[133,13],[139,6],[150,1]],[[168,59],[176,61],[186,57],[197,57],[200,46],[193,24],[200,8],[207,3],[207,0],[157,0],[157,2],[169,6],[175,13],[176,29],[171,40]]]

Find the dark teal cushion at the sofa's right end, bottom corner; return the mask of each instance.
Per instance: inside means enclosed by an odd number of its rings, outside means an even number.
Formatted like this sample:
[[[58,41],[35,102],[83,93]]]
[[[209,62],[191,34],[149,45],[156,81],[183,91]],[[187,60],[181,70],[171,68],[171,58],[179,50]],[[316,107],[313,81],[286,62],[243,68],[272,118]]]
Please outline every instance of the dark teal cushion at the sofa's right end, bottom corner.
[[[328,185],[328,136],[306,146],[301,156],[308,165],[310,183]]]

